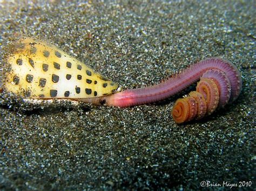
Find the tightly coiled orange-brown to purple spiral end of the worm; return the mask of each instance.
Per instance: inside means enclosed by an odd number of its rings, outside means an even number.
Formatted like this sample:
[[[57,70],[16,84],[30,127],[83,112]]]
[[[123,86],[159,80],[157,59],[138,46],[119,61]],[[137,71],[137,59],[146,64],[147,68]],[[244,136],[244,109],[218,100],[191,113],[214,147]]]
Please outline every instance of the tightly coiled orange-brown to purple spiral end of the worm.
[[[172,116],[176,123],[200,119],[211,115],[217,108],[224,107],[231,97],[231,83],[226,74],[218,69],[207,70],[197,84],[197,91],[180,98],[173,107]],[[191,104],[196,100],[196,104]],[[197,114],[194,114],[197,111]]]

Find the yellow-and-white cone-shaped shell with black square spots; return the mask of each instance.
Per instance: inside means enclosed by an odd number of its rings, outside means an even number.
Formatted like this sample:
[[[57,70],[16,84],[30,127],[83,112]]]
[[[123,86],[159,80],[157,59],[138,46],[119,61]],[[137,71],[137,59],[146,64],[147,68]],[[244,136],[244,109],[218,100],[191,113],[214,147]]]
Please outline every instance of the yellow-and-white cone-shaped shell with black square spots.
[[[117,91],[118,84],[94,72],[56,46],[32,38],[14,43],[4,89],[26,98],[94,98]]]

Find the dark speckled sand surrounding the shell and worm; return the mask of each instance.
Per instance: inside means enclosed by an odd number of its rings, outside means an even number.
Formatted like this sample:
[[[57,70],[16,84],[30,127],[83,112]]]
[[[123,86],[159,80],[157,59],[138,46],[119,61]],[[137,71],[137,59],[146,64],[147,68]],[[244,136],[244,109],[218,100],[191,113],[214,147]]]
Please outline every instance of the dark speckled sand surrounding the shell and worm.
[[[194,86],[126,109],[33,106],[2,95],[0,189],[182,190],[199,189],[201,181],[236,188],[255,181],[255,1],[1,2],[1,55],[10,38],[29,34],[124,89],[220,56],[238,67],[243,89],[234,103],[185,125],[175,124],[170,112]]]

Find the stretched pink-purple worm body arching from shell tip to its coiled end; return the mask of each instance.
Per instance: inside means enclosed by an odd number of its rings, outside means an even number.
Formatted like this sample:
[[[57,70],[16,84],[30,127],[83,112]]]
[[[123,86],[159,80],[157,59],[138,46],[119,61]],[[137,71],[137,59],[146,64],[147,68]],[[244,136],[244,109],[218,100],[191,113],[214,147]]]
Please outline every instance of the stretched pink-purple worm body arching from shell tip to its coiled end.
[[[212,70],[212,72],[207,72],[208,70]],[[218,71],[220,71],[220,73],[218,73]],[[102,102],[107,105],[114,105],[122,108],[130,107],[132,105],[152,103],[177,94],[179,91],[184,90],[192,83],[198,81],[203,75],[205,77],[210,76],[215,81],[218,81],[218,86],[223,83],[228,84],[226,89],[221,89],[221,101],[219,107],[222,107],[227,100],[228,103],[233,102],[239,96],[242,80],[237,67],[227,60],[210,58],[184,69],[176,76],[155,86],[124,90],[116,94],[97,98],[97,101],[92,99],[91,102]],[[230,98],[227,99],[228,97]]]

